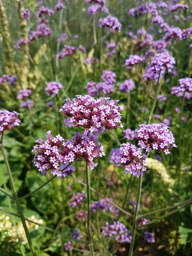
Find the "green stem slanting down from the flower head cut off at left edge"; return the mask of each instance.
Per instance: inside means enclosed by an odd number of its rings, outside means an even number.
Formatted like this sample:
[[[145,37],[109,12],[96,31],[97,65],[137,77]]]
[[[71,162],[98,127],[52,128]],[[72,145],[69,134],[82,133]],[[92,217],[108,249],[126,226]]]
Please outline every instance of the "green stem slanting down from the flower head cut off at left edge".
[[[23,228],[24,228],[24,231],[26,233],[27,241],[28,241],[28,244],[30,246],[32,256],[36,256],[34,246],[32,245],[30,233],[28,232],[26,221],[24,219],[23,211],[22,211],[22,208],[20,206],[20,202],[18,201],[18,193],[16,192],[14,180],[13,180],[12,173],[11,173],[11,169],[10,169],[9,162],[8,162],[8,159],[7,159],[7,156],[6,156],[6,153],[5,153],[5,148],[3,147],[2,142],[0,143],[0,148],[1,148],[1,151],[2,151],[2,154],[3,154],[3,158],[5,160],[5,164],[6,164],[6,167],[7,167],[7,172],[8,172],[9,177],[10,177],[10,183],[11,183],[12,191],[14,192],[14,197],[15,197],[14,200],[15,200],[15,203],[16,203],[16,207],[18,208],[20,220],[22,221]]]

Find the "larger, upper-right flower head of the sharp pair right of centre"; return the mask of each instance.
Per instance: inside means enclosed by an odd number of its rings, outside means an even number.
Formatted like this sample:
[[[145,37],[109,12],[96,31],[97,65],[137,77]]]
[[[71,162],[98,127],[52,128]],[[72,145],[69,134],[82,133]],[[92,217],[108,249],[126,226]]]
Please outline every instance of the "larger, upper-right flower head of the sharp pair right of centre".
[[[135,138],[139,141],[139,146],[145,148],[147,152],[157,150],[167,155],[169,148],[176,147],[172,132],[163,123],[139,125],[139,129],[135,130]]]

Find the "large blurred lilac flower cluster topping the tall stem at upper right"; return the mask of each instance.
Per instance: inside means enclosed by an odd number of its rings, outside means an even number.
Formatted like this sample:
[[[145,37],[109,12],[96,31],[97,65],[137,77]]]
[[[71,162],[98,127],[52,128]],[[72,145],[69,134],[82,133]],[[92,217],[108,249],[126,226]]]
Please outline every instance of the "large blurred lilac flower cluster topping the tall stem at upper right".
[[[168,72],[172,72],[174,64],[176,63],[174,57],[170,56],[169,51],[157,52],[148,63],[144,73],[144,80],[155,80],[158,82],[162,78],[167,69]]]

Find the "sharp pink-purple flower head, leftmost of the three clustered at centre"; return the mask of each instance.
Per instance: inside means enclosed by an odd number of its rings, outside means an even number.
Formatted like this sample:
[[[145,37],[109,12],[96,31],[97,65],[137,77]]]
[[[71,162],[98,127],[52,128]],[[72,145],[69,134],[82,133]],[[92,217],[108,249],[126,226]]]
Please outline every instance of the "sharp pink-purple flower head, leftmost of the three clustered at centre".
[[[52,170],[53,175],[61,176],[60,164],[63,162],[63,156],[61,151],[61,145],[64,138],[60,134],[52,137],[51,131],[47,131],[47,139],[38,139],[32,150],[35,152],[34,164],[41,174],[45,174],[46,171]]]

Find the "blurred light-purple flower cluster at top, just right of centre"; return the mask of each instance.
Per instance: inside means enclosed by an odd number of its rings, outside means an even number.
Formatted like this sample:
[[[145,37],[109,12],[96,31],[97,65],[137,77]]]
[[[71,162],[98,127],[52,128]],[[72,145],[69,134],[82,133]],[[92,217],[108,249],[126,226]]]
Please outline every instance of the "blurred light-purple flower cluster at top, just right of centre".
[[[122,29],[122,24],[116,17],[112,17],[110,15],[106,16],[105,18],[99,19],[98,22],[99,27],[107,27],[110,31],[118,31],[120,32]]]

